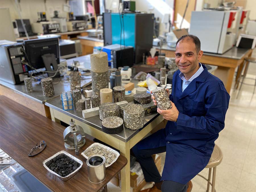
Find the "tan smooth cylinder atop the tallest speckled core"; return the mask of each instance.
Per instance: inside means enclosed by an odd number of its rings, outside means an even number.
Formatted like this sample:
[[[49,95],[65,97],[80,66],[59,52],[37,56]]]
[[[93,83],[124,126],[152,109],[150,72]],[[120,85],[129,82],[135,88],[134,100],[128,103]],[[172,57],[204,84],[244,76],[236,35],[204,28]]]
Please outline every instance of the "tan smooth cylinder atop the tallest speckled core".
[[[108,54],[106,52],[91,54],[91,70],[96,73],[108,71]]]

